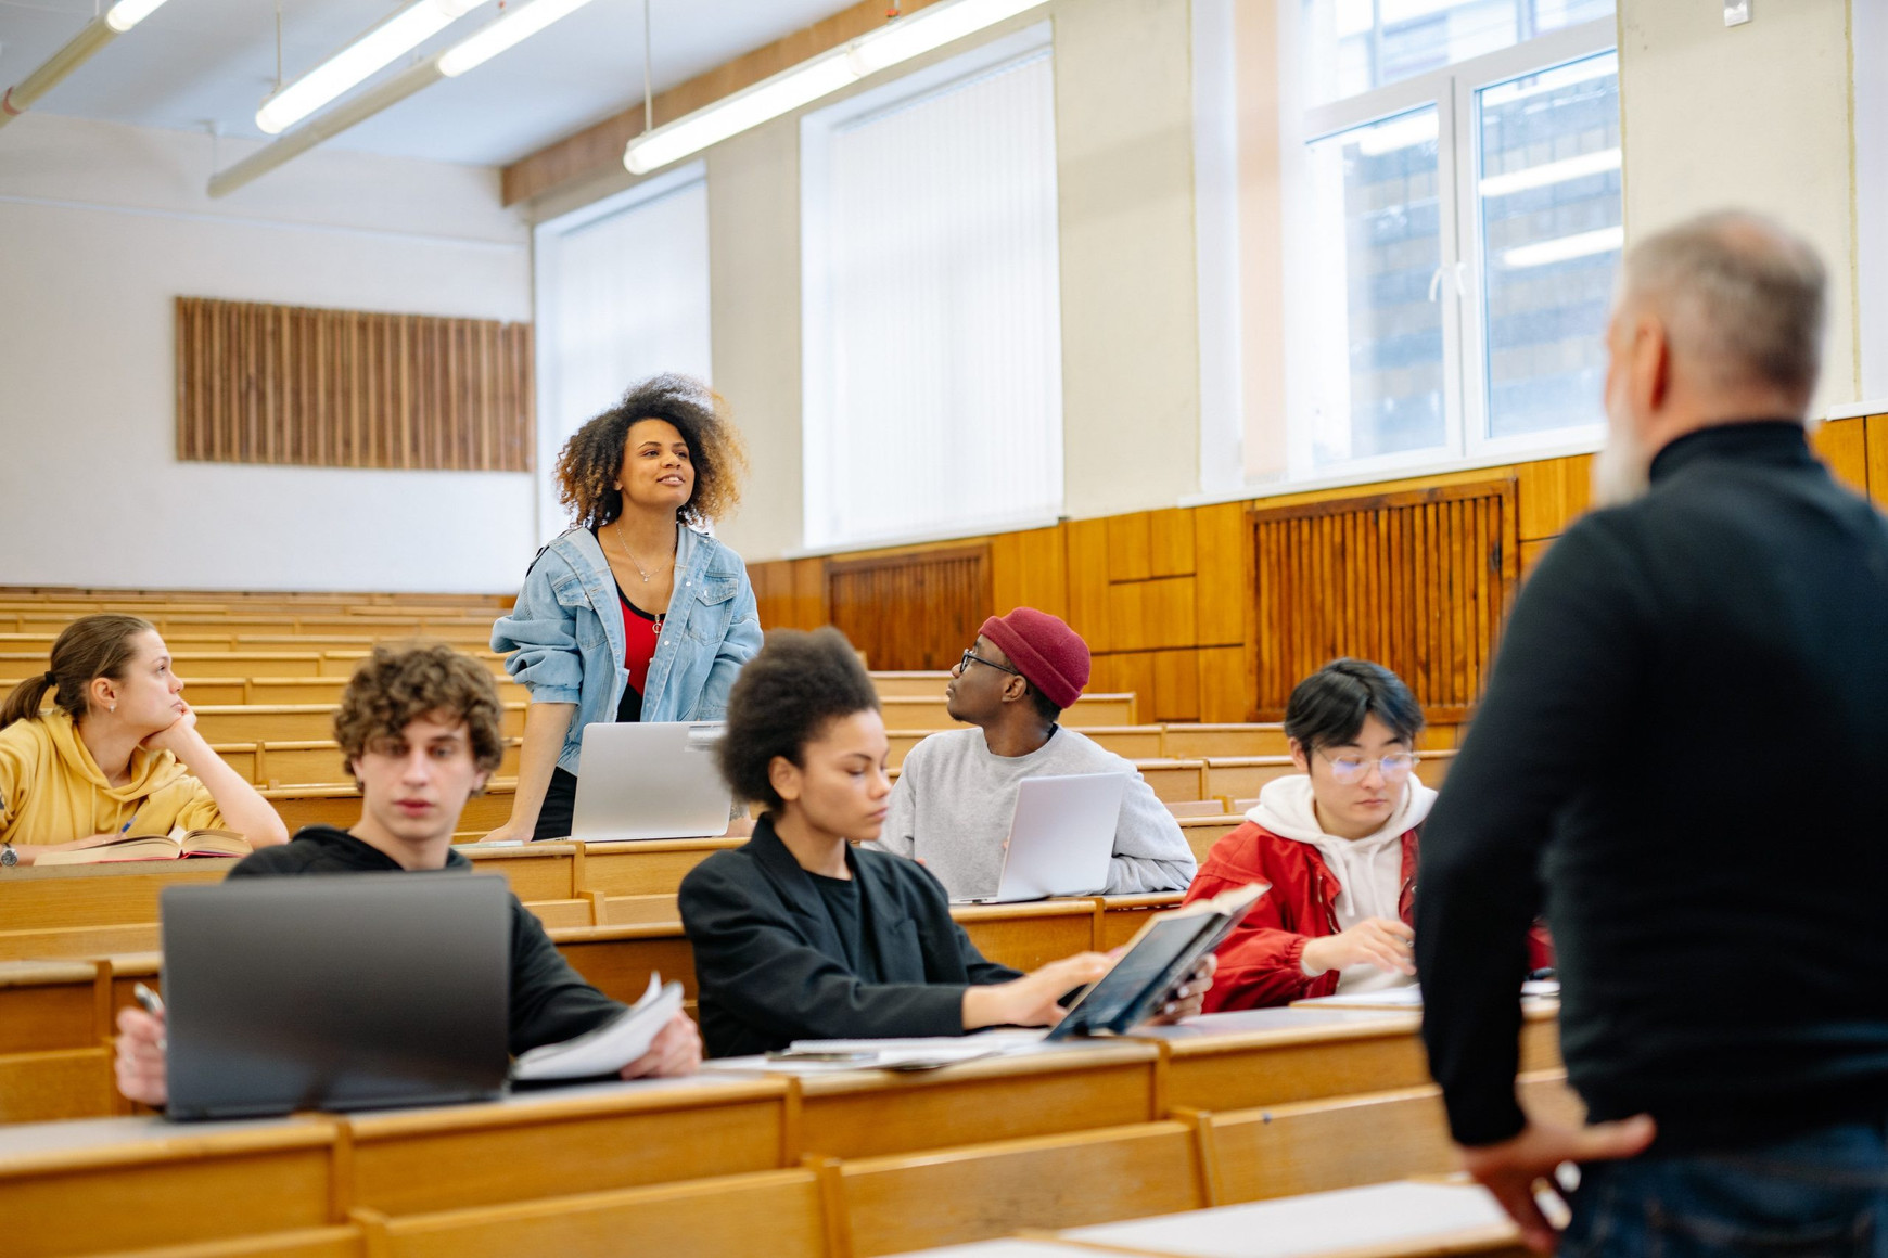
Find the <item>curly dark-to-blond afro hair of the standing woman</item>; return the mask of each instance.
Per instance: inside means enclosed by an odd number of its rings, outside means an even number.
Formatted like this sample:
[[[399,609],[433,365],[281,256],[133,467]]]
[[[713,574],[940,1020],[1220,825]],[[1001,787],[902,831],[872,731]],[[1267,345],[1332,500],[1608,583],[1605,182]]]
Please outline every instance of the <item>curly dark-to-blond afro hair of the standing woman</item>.
[[[706,524],[734,509],[748,451],[727,417],[727,404],[687,375],[651,375],[565,441],[557,456],[557,500],[570,509],[574,524],[597,528],[623,515],[615,481],[623,470],[623,443],[638,419],[665,419],[689,443],[695,492],[676,513],[683,522]]]

